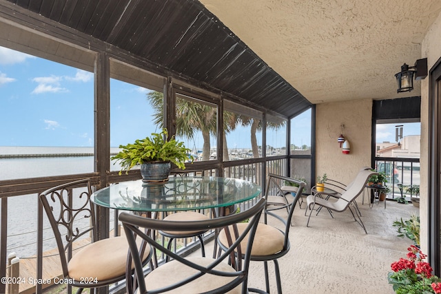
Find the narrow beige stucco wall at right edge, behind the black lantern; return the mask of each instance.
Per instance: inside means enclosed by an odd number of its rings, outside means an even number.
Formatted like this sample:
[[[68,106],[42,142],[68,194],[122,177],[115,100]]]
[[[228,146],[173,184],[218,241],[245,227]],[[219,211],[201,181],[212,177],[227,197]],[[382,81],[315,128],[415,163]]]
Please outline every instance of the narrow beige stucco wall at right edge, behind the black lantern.
[[[427,57],[427,67],[430,69],[441,57],[441,14],[427,31],[421,48],[422,58]],[[427,201],[427,183],[428,183],[428,162],[429,162],[429,78],[421,83],[421,158],[420,158],[420,222],[421,222],[421,248],[428,252],[427,248],[427,226],[428,201]]]

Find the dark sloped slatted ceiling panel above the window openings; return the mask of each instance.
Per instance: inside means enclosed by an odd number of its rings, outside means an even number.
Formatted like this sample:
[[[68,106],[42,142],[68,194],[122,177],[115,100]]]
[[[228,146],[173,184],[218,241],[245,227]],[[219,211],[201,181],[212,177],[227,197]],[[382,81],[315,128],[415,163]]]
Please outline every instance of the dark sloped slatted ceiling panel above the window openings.
[[[198,1],[8,1],[283,116],[311,105]]]

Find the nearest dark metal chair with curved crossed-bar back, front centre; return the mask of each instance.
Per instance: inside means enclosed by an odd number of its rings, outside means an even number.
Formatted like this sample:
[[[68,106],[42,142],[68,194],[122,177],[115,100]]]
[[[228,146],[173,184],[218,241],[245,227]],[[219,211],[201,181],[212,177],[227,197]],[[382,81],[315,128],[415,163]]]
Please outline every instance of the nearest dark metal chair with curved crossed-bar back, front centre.
[[[125,235],[130,244],[136,277],[139,288],[136,293],[247,293],[247,278],[249,271],[249,257],[252,250],[254,234],[265,200],[261,199],[250,209],[241,213],[230,214],[220,218],[199,221],[163,221],[134,216],[129,213],[121,213],[119,220],[123,223]],[[236,241],[231,242],[225,253],[218,258],[187,257],[174,253],[167,249],[150,234],[143,233],[141,229],[156,231],[205,231],[208,229],[227,230],[238,222],[248,220],[243,233],[238,235]],[[227,230],[227,235],[236,232]],[[237,235],[236,235],[237,236]],[[247,239],[245,238],[247,237]],[[144,277],[143,265],[139,257],[139,249],[136,246],[136,238],[142,238],[154,249],[170,255],[170,262],[159,265],[156,269],[147,273]],[[231,239],[230,239],[231,240]],[[234,268],[225,260],[234,256],[238,246],[244,246],[245,255],[242,266]],[[234,260],[234,258],[232,259]],[[234,262],[235,265],[238,262]],[[169,292],[170,291],[170,292]]]

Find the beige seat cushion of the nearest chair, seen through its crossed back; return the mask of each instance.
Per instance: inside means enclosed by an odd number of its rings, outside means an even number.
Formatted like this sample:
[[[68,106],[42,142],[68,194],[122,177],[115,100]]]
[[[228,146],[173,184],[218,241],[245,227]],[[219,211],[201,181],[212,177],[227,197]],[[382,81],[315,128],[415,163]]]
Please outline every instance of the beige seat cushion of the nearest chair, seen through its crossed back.
[[[208,266],[214,262],[212,258],[187,258],[187,260],[191,260],[192,262],[202,266]],[[218,264],[215,269],[232,273],[235,271],[231,266],[224,262]],[[157,269],[154,269],[152,273],[149,273],[147,277],[145,277],[145,286],[147,287],[147,291],[152,291],[156,288],[161,288],[163,286],[179,282],[185,279],[185,277],[189,277],[195,273],[198,273],[198,271],[181,264],[181,262],[172,260],[171,262],[167,262],[166,264],[159,266]],[[231,280],[234,279],[232,277],[220,277],[218,275],[205,274],[202,277],[189,282],[188,284],[164,293],[203,293],[227,284],[227,282]],[[240,294],[241,291],[242,285],[239,285],[227,293]]]

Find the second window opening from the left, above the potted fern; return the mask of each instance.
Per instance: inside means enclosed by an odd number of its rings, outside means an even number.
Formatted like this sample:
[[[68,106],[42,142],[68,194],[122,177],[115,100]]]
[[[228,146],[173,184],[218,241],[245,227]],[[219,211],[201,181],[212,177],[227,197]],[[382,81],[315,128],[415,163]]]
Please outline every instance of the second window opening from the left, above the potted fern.
[[[110,59],[110,155],[119,145],[161,132],[164,78]],[[136,168],[136,167],[135,167]],[[111,162],[110,170],[121,167]]]

